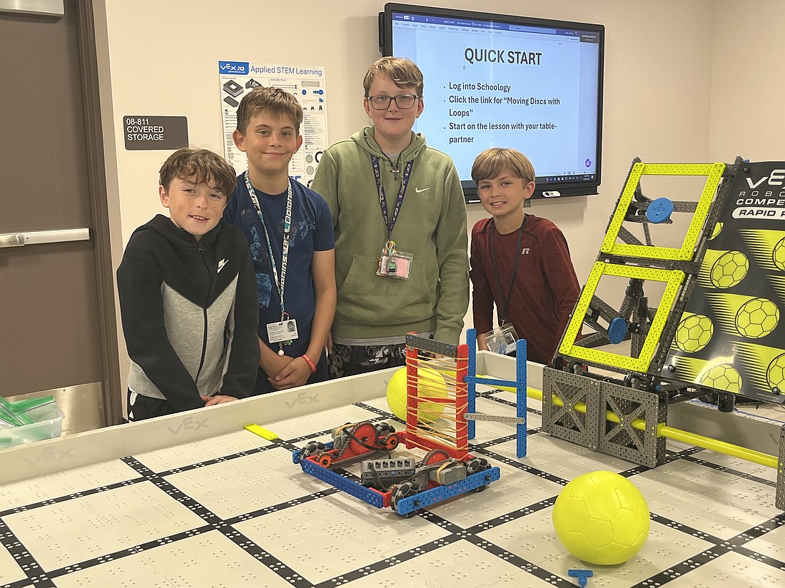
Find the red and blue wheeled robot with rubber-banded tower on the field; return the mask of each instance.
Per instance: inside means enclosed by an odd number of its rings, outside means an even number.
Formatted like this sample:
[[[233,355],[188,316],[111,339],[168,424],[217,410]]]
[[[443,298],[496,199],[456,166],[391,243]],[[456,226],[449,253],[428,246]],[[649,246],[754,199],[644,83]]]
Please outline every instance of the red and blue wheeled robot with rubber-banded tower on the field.
[[[412,517],[426,506],[482,491],[499,479],[498,467],[469,453],[475,422],[494,420],[516,425],[517,454],[526,454],[526,342],[517,341],[517,379],[498,380],[476,374],[476,332],[469,330],[466,345],[447,345],[408,334],[406,431],[396,432],[386,422],[348,423],[332,431],[332,441],[311,441],[292,454],[305,473],[319,478],[377,508],[389,506],[403,517]],[[430,354],[443,356],[433,360]],[[434,394],[418,378],[421,367],[438,371],[448,392]],[[449,382],[449,383],[447,383]],[[517,389],[516,417],[476,413],[476,385],[506,385]],[[422,389],[419,389],[422,388]],[[421,422],[423,407],[440,404],[438,418]],[[446,423],[442,426],[441,423]],[[414,458],[392,455],[404,444],[425,450]],[[361,463],[360,481],[345,466]]]

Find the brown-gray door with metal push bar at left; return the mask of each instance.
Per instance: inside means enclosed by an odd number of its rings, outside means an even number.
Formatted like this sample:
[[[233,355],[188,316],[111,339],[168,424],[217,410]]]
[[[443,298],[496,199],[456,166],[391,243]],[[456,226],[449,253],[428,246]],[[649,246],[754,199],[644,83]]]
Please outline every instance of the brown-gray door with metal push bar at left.
[[[66,432],[114,424],[119,367],[92,3],[65,0],[61,17],[2,4],[0,395],[55,393]],[[68,228],[89,238],[58,242]],[[39,231],[53,242],[32,243]]]

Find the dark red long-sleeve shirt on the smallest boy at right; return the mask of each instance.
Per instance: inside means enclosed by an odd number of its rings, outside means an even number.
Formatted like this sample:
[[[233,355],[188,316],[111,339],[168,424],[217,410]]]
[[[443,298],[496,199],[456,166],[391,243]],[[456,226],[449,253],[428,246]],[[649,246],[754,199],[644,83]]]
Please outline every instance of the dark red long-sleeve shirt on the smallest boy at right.
[[[477,221],[472,228],[471,271],[474,327],[482,334],[493,328],[493,306],[500,312],[513,276],[515,257],[520,255],[506,320],[518,337],[527,341],[528,360],[550,363],[575,307],[580,287],[570,260],[567,240],[546,218],[526,215],[526,225],[517,250],[518,234],[499,233],[493,218]],[[491,231],[498,278],[498,292],[491,258]],[[499,316],[499,322],[504,317]]]

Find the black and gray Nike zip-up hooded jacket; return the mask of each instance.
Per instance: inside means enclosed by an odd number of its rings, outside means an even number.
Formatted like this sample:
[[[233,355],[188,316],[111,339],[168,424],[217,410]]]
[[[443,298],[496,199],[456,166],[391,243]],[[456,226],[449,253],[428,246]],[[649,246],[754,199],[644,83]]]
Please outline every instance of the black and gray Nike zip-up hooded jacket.
[[[221,222],[197,241],[159,214],[131,235],[117,287],[131,391],[187,411],[200,395],[254,390],[258,294],[239,228]]]

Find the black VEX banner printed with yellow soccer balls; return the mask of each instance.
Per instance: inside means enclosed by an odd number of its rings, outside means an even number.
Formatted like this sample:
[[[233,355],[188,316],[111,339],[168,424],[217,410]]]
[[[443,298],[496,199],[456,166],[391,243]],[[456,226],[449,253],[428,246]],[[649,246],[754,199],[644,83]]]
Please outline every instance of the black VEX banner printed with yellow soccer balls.
[[[755,396],[785,393],[785,162],[739,168],[663,375]]]

